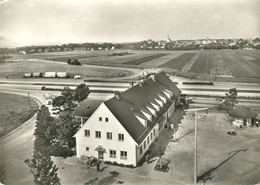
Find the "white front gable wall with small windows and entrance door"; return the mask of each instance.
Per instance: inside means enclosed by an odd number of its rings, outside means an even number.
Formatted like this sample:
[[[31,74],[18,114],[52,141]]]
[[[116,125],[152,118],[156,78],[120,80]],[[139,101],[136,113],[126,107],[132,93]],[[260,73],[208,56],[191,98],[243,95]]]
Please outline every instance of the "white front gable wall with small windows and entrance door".
[[[99,121],[102,117],[102,122]],[[109,121],[105,122],[105,118]],[[85,129],[90,130],[90,137],[85,137]],[[101,131],[101,139],[95,138],[95,131]],[[107,132],[112,132],[112,140],[107,139]],[[118,141],[118,133],[124,134],[124,141]],[[118,122],[110,110],[102,103],[88,121],[75,135],[77,157],[81,155],[98,157],[97,146],[105,148],[104,161],[136,165],[136,142]],[[89,152],[86,152],[89,147]],[[116,158],[110,158],[109,150],[116,150]],[[127,151],[127,160],[120,159],[120,151]]]

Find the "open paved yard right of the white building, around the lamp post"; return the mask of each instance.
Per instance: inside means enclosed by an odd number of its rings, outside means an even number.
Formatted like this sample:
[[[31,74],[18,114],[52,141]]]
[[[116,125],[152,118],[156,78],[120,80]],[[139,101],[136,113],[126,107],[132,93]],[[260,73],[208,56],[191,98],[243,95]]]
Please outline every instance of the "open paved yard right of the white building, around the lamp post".
[[[199,182],[217,183],[243,176],[260,167],[260,128],[236,130],[224,113],[199,113],[197,177]],[[169,176],[192,183],[194,171],[194,115],[187,114],[179,125],[163,158],[169,161]]]

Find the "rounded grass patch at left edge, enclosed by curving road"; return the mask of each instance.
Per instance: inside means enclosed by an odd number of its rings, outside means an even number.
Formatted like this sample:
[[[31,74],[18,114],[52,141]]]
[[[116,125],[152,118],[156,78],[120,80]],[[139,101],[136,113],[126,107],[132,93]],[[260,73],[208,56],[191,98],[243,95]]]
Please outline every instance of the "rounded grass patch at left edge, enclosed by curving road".
[[[25,96],[0,93],[0,137],[30,119],[37,111],[38,104],[31,99],[29,109]]]

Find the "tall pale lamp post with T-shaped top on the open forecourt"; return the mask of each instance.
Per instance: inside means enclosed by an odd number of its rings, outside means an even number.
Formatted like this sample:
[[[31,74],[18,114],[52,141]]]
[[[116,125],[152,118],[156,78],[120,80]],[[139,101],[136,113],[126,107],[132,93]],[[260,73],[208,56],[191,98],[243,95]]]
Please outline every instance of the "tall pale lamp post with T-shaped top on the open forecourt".
[[[197,184],[197,117],[198,111],[206,110],[208,113],[208,108],[196,108],[196,109],[186,109],[185,112],[195,112],[195,149],[194,149],[194,184]]]

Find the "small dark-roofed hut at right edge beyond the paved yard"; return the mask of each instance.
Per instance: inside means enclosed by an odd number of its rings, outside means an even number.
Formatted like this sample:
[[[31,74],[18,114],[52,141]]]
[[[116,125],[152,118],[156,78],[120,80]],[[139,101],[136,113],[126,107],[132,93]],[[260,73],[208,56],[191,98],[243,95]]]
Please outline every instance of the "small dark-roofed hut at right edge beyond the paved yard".
[[[236,109],[228,110],[228,115],[233,118],[233,124],[241,126],[255,125],[257,114],[246,107],[237,107]]]

